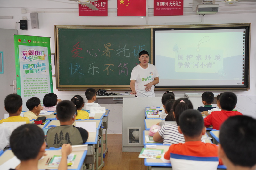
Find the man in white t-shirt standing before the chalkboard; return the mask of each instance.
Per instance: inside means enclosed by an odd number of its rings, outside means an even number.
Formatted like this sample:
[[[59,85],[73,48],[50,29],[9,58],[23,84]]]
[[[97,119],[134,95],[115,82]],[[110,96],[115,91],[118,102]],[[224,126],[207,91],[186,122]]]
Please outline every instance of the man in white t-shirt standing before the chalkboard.
[[[136,97],[155,97],[155,84],[159,83],[159,74],[153,64],[149,64],[149,54],[143,50],[139,53],[140,64],[131,73],[131,94]]]

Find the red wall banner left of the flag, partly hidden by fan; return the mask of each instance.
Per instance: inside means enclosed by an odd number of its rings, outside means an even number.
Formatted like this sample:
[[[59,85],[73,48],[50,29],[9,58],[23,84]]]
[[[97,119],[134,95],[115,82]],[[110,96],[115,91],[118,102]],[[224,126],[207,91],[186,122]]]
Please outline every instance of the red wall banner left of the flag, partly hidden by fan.
[[[108,16],[108,0],[99,0],[92,2],[98,10],[79,4],[79,16]]]

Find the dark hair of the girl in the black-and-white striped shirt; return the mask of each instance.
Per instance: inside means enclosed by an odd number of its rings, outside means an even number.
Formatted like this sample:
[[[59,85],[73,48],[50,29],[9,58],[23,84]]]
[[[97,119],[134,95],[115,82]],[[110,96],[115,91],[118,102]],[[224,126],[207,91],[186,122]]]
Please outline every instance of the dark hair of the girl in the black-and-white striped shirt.
[[[174,111],[177,125],[179,125],[179,116],[187,109],[193,109],[191,101],[187,98],[179,98],[173,103],[172,110]]]

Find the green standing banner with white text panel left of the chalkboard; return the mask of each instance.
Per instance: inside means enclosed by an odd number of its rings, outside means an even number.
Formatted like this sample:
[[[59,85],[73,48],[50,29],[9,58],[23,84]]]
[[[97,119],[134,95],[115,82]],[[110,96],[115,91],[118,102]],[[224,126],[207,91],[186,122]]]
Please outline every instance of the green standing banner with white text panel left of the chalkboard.
[[[14,35],[17,94],[24,103],[31,97],[41,101],[53,93],[51,50],[49,37]],[[25,105],[26,106],[26,105]]]

